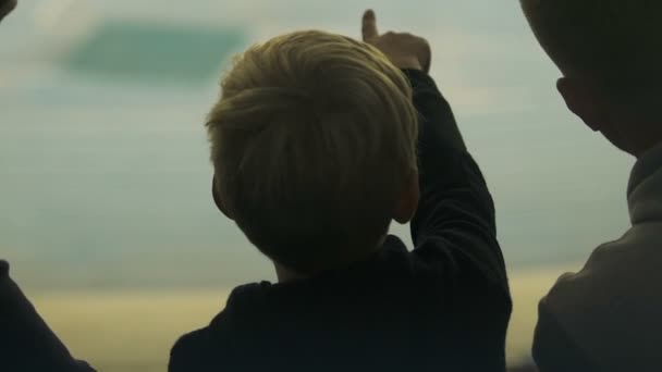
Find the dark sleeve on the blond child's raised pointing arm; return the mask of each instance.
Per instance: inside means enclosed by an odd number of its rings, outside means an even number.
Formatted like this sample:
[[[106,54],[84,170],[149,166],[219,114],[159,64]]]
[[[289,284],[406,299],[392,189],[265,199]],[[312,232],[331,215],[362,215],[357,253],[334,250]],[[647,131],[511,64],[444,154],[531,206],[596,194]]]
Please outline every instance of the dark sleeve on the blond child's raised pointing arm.
[[[415,70],[405,70],[405,74],[414,88],[414,104],[420,117],[420,201],[410,224],[414,253],[424,261],[439,263],[445,280],[457,282],[461,290],[489,287],[500,292],[497,297],[505,299],[503,305],[510,312],[494,203],[482,173],[432,78]]]

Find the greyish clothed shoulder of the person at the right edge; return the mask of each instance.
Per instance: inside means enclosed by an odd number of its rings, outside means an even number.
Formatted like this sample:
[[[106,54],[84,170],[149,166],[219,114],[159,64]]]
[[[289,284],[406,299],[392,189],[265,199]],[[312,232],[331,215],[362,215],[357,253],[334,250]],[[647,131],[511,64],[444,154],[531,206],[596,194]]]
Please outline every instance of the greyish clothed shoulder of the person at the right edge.
[[[662,251],[660,240],[651,240],[648,233],[629,230],[622,238],[593,250],[580,271],[556,281],[539,303],[535,337],[539,357],[548,352],[545,349],[557,349],[560,339],[567,340],[567,352],[600,357],[592,362],[614,363],[617,360],[610,358],[618,350],[637,352],[641,360],[652,355],[645,349],[650,344],[646,340],[655,337],[650,334],[654,330],[651,324],[662,310],[662,301],[657,300],[662,290]],[[559,358],[548,355],[550,361]]]

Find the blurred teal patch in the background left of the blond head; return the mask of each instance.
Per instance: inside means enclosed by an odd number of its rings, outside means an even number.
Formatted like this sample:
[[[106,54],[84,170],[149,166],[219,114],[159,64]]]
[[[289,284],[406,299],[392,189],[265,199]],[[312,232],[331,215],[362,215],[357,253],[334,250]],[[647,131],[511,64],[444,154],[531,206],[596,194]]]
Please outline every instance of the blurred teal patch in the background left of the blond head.
[[[201,84],[245,42],[240,28],[110,21],[74,48],[66,69],[137,83]]]

